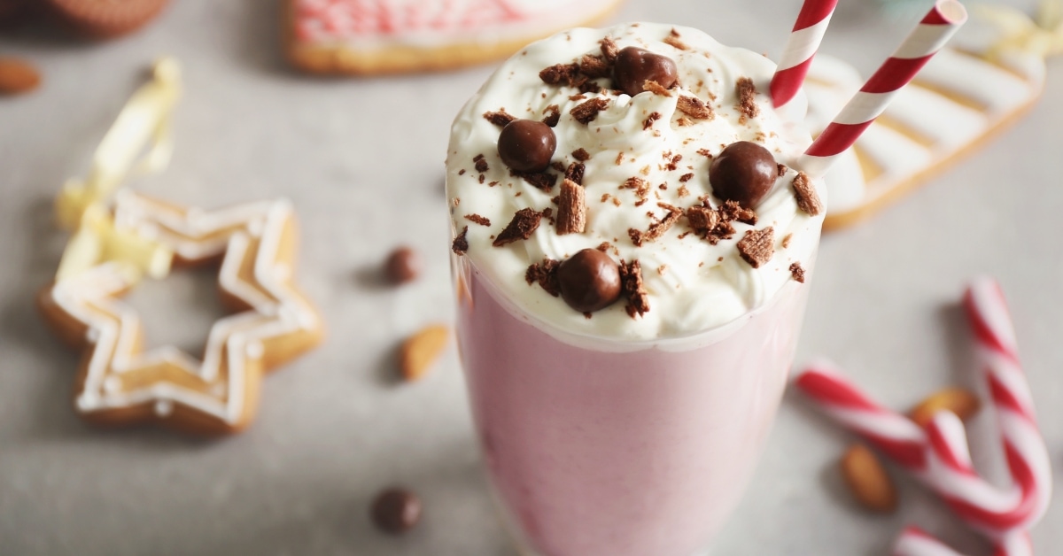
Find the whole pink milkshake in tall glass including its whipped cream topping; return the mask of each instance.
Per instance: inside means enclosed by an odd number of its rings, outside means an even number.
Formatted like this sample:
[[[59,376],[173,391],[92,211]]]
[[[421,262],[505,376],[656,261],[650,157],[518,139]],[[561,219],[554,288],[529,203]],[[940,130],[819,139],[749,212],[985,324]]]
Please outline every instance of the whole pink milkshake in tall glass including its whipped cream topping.
[[[692,29],[576,29],[455,120],[461,359],[526,553],[704,553],[741,496],[824,212],[773,71]]]

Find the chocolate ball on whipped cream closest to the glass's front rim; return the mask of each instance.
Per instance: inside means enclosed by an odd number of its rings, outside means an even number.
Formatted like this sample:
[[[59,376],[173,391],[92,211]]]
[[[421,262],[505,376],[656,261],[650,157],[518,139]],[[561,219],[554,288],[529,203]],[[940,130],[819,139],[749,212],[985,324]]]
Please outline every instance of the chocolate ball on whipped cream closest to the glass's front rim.
[[[580,313],[605,308],[620,297],[620,266],[609,255],[585,249],[557,267],[561,299]]]

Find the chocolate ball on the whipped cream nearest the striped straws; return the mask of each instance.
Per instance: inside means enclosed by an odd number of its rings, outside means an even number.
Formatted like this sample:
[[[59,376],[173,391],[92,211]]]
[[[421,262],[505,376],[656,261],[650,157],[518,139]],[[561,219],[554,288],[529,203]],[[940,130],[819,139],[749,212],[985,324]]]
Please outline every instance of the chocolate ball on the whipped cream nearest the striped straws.
[[[753,208],[775,185],[779,167],[771,151],[750,141],[728,145],[709,165],[712,193]]]

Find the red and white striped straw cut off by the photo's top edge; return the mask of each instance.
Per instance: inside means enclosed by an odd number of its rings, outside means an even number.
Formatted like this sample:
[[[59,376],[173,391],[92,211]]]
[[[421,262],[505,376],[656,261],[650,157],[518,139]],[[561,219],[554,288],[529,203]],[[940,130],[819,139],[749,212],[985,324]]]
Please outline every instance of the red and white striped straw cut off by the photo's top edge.
[[[838,0],[805,0],[802,5],[797,22],[782,49],[779,66],[772,75],[772,104],[776,108],[789,103],[800,90],[837,5]]]

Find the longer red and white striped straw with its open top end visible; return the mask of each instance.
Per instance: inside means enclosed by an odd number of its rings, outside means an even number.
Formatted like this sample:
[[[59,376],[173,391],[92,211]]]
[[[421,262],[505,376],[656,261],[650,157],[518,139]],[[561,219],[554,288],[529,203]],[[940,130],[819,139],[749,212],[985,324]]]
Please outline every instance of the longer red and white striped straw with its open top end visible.
[[[897,91],[967,20],[967,11],[957,0],[938,0],[897,51],[860,88],[827,129],[805,151],[798,166],[813,176],[827,173],[838,155],[856,142],[893,100]]]

